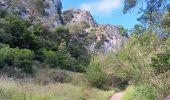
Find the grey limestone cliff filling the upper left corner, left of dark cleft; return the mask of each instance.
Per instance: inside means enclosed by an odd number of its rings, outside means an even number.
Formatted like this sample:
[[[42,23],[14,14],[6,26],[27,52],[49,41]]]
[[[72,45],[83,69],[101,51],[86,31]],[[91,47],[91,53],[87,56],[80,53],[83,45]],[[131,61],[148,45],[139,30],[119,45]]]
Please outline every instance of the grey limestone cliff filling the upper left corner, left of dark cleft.
[[[17,13],[23,19],[51,27],[62,25],[60,0],[0,0],[0,8]]]

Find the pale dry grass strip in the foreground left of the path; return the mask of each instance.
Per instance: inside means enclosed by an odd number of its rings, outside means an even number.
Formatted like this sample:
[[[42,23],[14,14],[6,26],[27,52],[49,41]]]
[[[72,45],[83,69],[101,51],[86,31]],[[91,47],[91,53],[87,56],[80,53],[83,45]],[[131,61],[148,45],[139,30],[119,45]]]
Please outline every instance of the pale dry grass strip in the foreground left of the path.
[[[103,91],[67,83],[36,85],[0,80],[0,100],[107,100],[114,91]]]

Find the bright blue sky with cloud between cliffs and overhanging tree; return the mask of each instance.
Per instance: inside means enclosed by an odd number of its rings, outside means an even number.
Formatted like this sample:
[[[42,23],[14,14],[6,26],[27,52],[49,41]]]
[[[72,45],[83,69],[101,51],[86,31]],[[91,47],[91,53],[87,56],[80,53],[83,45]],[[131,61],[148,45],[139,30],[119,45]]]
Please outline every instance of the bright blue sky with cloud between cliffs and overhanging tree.
[[[99,24],[123,25],[131,29],[139,22],[137,8],[123,14],[123,0],[61,0],[63,10],[70,8],[88,10]]]

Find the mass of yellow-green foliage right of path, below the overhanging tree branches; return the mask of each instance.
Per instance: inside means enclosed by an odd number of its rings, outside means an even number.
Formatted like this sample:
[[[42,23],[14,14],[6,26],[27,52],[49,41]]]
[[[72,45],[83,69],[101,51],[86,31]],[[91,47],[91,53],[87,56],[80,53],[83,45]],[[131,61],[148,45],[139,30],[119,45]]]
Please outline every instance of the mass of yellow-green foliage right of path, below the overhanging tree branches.
[[[113,68],[114,75],[137,86],[130,99],[163,99],[170,93],[170,83],[166,81],[169,77],[169,42],[168,39],[161,39],[150,33],[150,30],[143,32],[132,34],[125,47],[108,58],[108,64]],[[150,91],[152,88],[157,92]]]

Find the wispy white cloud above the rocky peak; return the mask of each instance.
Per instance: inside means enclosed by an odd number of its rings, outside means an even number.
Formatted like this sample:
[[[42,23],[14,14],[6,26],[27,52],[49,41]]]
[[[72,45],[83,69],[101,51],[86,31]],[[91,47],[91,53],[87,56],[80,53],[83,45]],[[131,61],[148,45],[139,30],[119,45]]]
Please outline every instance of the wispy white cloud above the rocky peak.
[[[94,15],[109,17],[114,10],[121,7],[122,0],[98,0],[91,3],[83,3],[82,10],[88,10]]]

